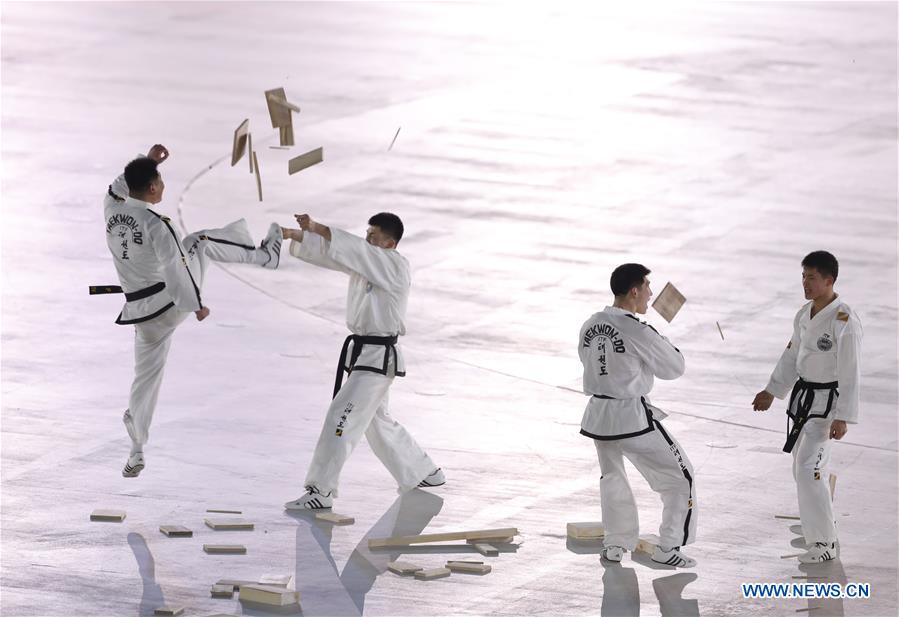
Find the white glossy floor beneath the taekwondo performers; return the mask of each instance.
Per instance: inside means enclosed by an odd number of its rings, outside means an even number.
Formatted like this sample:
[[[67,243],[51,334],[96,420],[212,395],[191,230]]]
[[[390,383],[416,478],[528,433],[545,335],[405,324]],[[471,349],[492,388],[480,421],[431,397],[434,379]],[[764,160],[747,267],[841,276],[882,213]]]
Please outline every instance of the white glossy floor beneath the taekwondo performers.
[[[324,615],[895,615],[897,607],[897,5],[715,3],[602,11],[549,3],[4,2],[2,7],[2,613],[262,615],[219,578],[295,574]],[[272,149],[263,91],[301,106]],[[250,119],[265,200],[246,160]],[[388,146],[401,128],[392,150]],[[344,280],[291,259],[214,271],[212,315],[176,335],[147,449],[125,480],[132,331],[101,197],[167,145],[161,209],[185,229],[309,212],[362,232],[406,223],[408,377],[394,415],[448,484],[399,497],[364,443],[331,528],[286,514],[330,398]],[[287,159],[323,146],[323,164]],[[751,411],[803,302],[802,256],[841,260],[863,320],[861,423],[833,450],[842,558],[799,568],[782,404]],[[640,261],[688,303],[668,325],[687,374],[654,402],[696,468],[695,569],[566,543],[598,520],[578,435],[578,328]],[[723,339],[716,322],[720,324]],[[633,471],[633,470],[631,470]],[[645,532],[660,504],[633,473]],[[100,507],[121,524],[90,523]],[[213,532],[207,508],[253,532]],[[169,539],[183,524],[191,539]],[[368,537],[516,526],[484,577],[385,572]],[[244,556],[210,556],[207,542]],[[437,566],[470,556],[417,548]],[[867,600],[746,600],[742,582],[824,576]]]

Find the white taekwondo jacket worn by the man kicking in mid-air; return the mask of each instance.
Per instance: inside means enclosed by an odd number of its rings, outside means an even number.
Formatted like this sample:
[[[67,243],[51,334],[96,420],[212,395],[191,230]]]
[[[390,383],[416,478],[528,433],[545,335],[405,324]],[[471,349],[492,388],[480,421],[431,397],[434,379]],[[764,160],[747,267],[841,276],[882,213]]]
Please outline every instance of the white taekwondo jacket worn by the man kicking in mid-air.
[[[104,200],[106,244],[126,300],[117,324],[148,321],[172,307],[184,312],[203,308],[195,260],[185,255],[168,217],[150,205],[128,196],[124,175]]]

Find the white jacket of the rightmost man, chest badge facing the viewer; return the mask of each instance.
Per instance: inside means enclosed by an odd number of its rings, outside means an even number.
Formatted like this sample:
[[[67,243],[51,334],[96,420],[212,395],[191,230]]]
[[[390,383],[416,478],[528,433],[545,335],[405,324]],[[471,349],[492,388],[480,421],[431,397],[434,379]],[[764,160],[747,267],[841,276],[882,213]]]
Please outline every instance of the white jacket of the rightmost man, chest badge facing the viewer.
[[[812,302],[809,301],[796,313],[793,336],[765,390],[777,398],[784,398],[797,380],[817,384],[836,382],[836,400],[832,401],[829,413],[828,397],[816,396],[809,414],[855,424],[858,422],[861,378],[861,322],[839,297],[814,318],[811,310]]]

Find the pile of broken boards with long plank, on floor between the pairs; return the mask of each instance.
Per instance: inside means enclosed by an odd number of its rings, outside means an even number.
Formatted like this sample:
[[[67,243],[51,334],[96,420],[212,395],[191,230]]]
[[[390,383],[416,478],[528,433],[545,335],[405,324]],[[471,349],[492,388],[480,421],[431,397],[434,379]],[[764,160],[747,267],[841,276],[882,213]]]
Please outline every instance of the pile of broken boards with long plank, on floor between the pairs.
[[[473,548],[482,555],[495,557],[500,550],[497,547],[510,545],[518,534],[518,529],[506,527],[503,529],[479,529],[475,531],[451,531],[445,533],[430,533],[418,536],[396,536],[393,538],[372,538],[368,541],[371,550],[393,550],[412,545],[432,544],[435,542],[450,542],[464,540],[465,544],[459,548],[466,550]],[[483,561],[447,561],[442,568],[424,568],[407,561],[391,561],[387,569],[399,576],[414,576],[418,580],[432,580],[445,578],[452,573],[463,574],[488,574],[492,567]]]

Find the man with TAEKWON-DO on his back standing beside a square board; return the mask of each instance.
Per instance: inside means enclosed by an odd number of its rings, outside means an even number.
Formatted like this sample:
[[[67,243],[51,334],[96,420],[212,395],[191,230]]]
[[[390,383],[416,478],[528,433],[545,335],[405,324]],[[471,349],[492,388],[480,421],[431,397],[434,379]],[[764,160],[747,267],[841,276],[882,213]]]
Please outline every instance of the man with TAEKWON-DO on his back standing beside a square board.
[[[659,547],[652,560],[675,567],[696,561],[680,547],[696,538],[696,486],[693,466],[680,444],[662,427],[667,414],[650,404],[653,378],[676,379],[684,357],[655,328],[634,313],[645,314],[652,297],[649,270],[624,264],[611,277],[613,306],[581,327],[578,353],[584,364],[584,392],[592,395],[581,434],[591,437],[599,456],[599,481],[605,539],[602,555],[621,561],[639,540],[637,504],[623,457],[637,468],[662,498]]]

